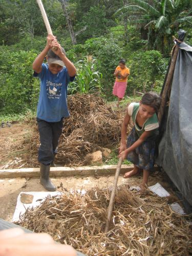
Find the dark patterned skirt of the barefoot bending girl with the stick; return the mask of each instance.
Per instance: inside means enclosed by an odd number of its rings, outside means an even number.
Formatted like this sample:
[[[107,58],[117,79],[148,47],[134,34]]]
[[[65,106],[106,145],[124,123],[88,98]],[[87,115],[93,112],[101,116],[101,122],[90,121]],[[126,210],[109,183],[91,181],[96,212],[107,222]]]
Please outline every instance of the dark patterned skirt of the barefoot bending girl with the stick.
[[[131,134],[127,137],[127,148],[139,139],[135,126]],[[140,146],[127,155],[127,160],[135,164],[140,169],[153,171],[155,162],[155,140],[156,136],[148,137]]]

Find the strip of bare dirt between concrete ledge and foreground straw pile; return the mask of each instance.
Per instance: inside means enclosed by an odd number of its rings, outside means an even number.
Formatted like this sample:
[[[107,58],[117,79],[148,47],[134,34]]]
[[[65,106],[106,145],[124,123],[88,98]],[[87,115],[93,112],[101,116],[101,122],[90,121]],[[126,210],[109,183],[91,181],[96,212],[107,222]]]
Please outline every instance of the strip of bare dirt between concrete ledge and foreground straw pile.
[[[118,185],[129,184],[130,186],[138,185],[141,182],[142,175],[137,177],[132,177],[130,179],[124,179],[123,176],[119,177]],[[52,181],[58,187],[58,191],[63,191],[63,188],[67,190],[72,189],[90,189],[94,186],[100,188],[105,188],[112,186],[114,181],[114,176],[100,176],[100,177],[68,177],[68,178],[57,178]],[[177,201],[175,199],[172,188],[169,183],[165,181],[161,173],[154,173],[148,182],[148,186],[155,185],[159,182],[169,193],[172,195],[170,200],[172,202]],[[16,200],[20,192],[29,192],[29,191],[46,191],[41,184],[39,179],[25,179],[25,178],[14,178],[14,179],[0,179],[0,218],[4,220],[11,221],[15,206]]]

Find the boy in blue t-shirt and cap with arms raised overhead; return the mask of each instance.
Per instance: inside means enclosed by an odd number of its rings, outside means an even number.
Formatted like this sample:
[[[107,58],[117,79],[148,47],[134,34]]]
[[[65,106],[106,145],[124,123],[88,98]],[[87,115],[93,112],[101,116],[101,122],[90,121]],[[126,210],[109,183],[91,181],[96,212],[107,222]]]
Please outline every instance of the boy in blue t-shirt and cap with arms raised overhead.
[[[43,63],[47,55],[48,64]],[[48,35],[47,45],[33,62],[34,76],[40,79],[37,106],[37,124],[40,135],[38,161],[40,183],[49,191],[56,187],[49,179],[50,165],[54,164],[58,140],[62,133],[63,118],[69,116],[67,86],[75,79],[76,69],[66,57],[65,50],[53,35]]]

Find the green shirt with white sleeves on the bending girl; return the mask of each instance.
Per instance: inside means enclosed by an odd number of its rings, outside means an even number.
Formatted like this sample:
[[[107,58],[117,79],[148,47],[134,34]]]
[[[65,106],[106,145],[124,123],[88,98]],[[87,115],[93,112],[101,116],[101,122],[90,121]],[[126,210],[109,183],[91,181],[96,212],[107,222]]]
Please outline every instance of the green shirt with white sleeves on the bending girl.
[[[152,117],[146,119],[142,127],[139,127],[138,124],[136,123],[136,116],[138,111],[139,102],[133,102],[128,106],[128,114],[132,117],[138,136],[140,137],[145,131],[156,132],[159,127],[159,122],[156,113]]]

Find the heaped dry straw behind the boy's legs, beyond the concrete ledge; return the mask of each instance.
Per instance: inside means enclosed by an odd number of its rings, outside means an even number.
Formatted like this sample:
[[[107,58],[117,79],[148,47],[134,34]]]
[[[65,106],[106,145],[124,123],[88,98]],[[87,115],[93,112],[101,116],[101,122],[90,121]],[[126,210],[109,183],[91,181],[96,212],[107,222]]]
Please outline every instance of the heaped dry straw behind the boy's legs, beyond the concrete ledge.
[[[124,113],[115,112],[101,97],[89,94],[70,95],[68,108],[70,117],[63,123],[56,163],[83,165],[88,153],[118,144]],[[34,132],[19,148],[24,151],[23,161],[19,162],[22,166],[38,167],[39,135],[35,121],[33,126]]]

